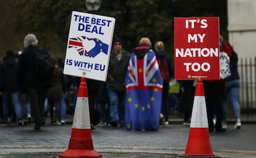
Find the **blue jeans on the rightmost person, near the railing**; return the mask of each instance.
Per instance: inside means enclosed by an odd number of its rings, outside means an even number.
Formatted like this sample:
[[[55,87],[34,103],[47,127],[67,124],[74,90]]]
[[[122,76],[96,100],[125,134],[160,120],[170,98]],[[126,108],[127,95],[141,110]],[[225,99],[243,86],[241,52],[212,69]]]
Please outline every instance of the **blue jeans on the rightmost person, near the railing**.
[[[234,108],[234,113],[237,117],[241,116],[241,108],[239,104],[239,89],[240,89],[240,80],[230,80],[225,83],[224,90],[224,101],[223,101],[223,120],[226,121],[227,107],[228,107],[228,94],[230,94],[231,104]]]

